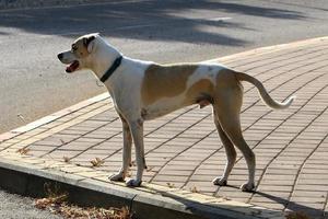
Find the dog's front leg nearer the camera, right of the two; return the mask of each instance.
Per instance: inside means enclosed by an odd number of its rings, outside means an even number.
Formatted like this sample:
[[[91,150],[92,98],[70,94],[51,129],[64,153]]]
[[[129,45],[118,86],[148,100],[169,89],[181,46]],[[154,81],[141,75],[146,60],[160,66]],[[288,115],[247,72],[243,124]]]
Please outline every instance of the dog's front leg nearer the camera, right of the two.
[[[143,120],[141,118],[130,123],[132,138],[136,147],[136,161],[137,161],[137,177],[127,181],[127,186],[140,186],[142,182],[142,173],[145,168],[144,161],[144,147],[143,147]]]

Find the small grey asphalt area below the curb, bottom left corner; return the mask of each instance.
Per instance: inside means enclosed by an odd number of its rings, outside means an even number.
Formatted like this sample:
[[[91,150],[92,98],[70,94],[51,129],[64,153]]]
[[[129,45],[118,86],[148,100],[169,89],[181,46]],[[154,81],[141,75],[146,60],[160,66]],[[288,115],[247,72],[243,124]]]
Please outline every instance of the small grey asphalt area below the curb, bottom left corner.
[[[33,206],[33,199],[0,191],[0,218],[5,219],[61,219],[47,210]]]

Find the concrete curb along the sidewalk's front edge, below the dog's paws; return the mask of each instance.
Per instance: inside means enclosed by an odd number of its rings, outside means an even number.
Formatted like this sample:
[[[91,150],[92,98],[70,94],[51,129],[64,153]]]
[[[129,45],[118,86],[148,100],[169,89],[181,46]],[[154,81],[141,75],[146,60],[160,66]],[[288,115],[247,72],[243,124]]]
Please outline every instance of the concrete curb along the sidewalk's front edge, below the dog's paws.
[[[44,197],[45,185],[69,193],[69,201],[83,206],[127,206],[138,219],[237,219],[283,218],[281,212],[254,205],[225,200],[187,191],[145,184],[128,188],[113,184],[106,177],[96,180],[62,171],[75,165],[47,162],[28,155],[2,153],[0,186],[7,191],[32,197]],[[90,168],[80,168],[92,171]]]

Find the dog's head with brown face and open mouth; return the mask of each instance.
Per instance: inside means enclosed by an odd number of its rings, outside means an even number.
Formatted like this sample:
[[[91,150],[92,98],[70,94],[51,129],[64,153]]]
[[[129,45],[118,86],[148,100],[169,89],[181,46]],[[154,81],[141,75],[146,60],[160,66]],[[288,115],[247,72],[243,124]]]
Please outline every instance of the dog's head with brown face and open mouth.
[[[58,59],[66,65],[66,72],[71,73],[83,68],[90,68],[90,57],[94,53],[99,35],[87,34],[74,41],[70,50],[58,54]]]

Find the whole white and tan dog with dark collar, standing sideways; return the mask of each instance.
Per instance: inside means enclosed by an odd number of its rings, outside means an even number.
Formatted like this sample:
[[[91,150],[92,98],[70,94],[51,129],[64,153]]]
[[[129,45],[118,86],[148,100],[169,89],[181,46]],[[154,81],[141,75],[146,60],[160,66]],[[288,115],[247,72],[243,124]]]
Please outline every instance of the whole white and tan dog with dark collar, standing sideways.
[[[137,178],[126,182],[139,186],[145,168],[143,122],[163,116],[178,108],[199,104],[213,106],[214,123],[225,147],[227,162],[215,185],[226,185],[236,160],[237,147],[248,166],[248,182],[242,191],[255,188],[255,154],[245,142],[239,122],[243,101],[241,81],[253,83],[263,102],[272,108],[286,108],[293,96],[284,103],[270,97],[257,79],[216,64],[159,65],[128,58],[106,43],[98,34],[79,37],[70,50],[58,55],[69,65],[67,72],[91,69],[109,91],[115,108],[122,122],[124,152],[121,170],[110,176],[124,181],[130,162],[132,139],[136,147]]]

